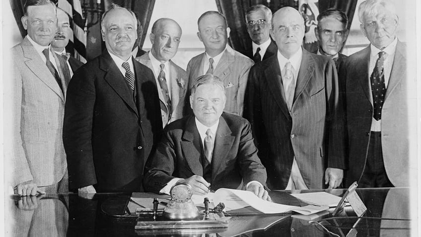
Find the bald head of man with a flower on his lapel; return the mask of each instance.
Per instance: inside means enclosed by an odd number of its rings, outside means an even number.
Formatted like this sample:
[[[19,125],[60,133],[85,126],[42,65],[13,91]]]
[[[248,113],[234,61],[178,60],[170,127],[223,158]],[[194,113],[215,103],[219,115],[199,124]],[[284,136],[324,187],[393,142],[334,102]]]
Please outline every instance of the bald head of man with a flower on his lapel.
[[[152,25],[149,35],[152,48],[150,52],[161,63],[172,59],[178,50],[181,39],[181,27],[173,19],[160,18]]]

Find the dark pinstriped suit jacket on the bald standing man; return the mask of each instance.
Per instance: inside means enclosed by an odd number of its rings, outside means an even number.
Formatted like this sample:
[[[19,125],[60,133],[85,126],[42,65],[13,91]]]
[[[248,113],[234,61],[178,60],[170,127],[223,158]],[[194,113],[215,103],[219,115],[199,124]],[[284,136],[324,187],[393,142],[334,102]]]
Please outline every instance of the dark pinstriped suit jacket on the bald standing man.
[[[344,156],[326,157],[330,149],[343,152],[336,132],[338,80],[333,60],[303,50],[289,114],[276,55],[250,70],[245,117],[253,128],[259,158],[272,189],[285,189],[295,157],[310,189],[323,187],[326,167],[345,168]],[[341,142],[342,141],[342,142]]]

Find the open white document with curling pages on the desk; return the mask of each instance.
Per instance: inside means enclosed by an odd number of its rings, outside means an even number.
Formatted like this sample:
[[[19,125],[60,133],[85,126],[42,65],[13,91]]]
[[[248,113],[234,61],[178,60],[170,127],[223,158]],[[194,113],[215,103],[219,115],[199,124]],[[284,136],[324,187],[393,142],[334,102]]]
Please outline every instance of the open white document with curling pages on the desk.
[[[220,188],[216,190],[215,193],[208,196],[208,198],[209,198],[210,203],[213,203],[213,206],[217,205],[220,202],[224,203],[225,204],[224,211],[231,211],[231,210],[236,210],[236,209],[241,209],[241,208],[251,206],[254,209],[264,214],[277,214],[277,213],[284,213],[288,211],[294,211],[303,215],[310,215],[313,213],[317,213],[317,212],[329,209],[328,206],[308,205],[305,207],[297,207],[297,206],[277,204],[277,203],[262,200],[250,191],[228,189],[228,188]],[[203,205],[203,197],[200,195],[195,196],[194,198],[192,198],[192,200],[193,202],[195,202],[195,205],[197,206]]]

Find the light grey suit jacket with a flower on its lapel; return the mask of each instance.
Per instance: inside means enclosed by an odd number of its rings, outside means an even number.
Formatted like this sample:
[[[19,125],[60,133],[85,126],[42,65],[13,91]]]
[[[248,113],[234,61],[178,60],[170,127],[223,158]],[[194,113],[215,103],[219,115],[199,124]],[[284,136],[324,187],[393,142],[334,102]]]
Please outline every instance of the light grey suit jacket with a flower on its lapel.
[[[152,70],[153,76],[155,76],[156,84],[159,85],[158,75],[155,75],[155,71],[152,67],[152,64],[150,63],[149,52],[143,54],[140,57],[137,57],[136,60],[139,61],[141,64],[145,65],[146,67],[148,67],[150,70]],[[188,78],[187,78],[186,71],[184,71],[184,69],[177,66],[171,60],[169,60],[169,65],[170,65],[170,68],[169,68],[170,75],[166,75],[166,79],[167,80],[169,79],[170,81],[169,83],[170,83],[170,91],[171,91],[171,108],[172,108],[171,115],[168,115],[168,107],[164,99],[164,95],[162,94],[162,91],[158,89],[163,127],[183,117],[183,110],[184,110],[184,105],[185,105],[184,101],[185,101],[187,85],[188,85]],[[162,106],[165,107],[165,110],[162,109]],[[168,116],[170,116],[170,119],[168,119]]]

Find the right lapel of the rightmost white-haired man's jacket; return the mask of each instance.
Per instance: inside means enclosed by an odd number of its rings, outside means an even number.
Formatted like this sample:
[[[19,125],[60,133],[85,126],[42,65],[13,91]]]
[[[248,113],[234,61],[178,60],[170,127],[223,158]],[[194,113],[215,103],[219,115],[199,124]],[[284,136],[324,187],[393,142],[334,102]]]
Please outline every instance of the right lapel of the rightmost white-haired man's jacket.
[[[406,72],[406,58],[402,54],[405,52],[405,48],[401,42],[398,41],[395,50],[395,58],[393,59],[392,71],[390,72],[389,83],[387,84],[385,100],[393,92],[399,82],[406,77],[403,72]]]

